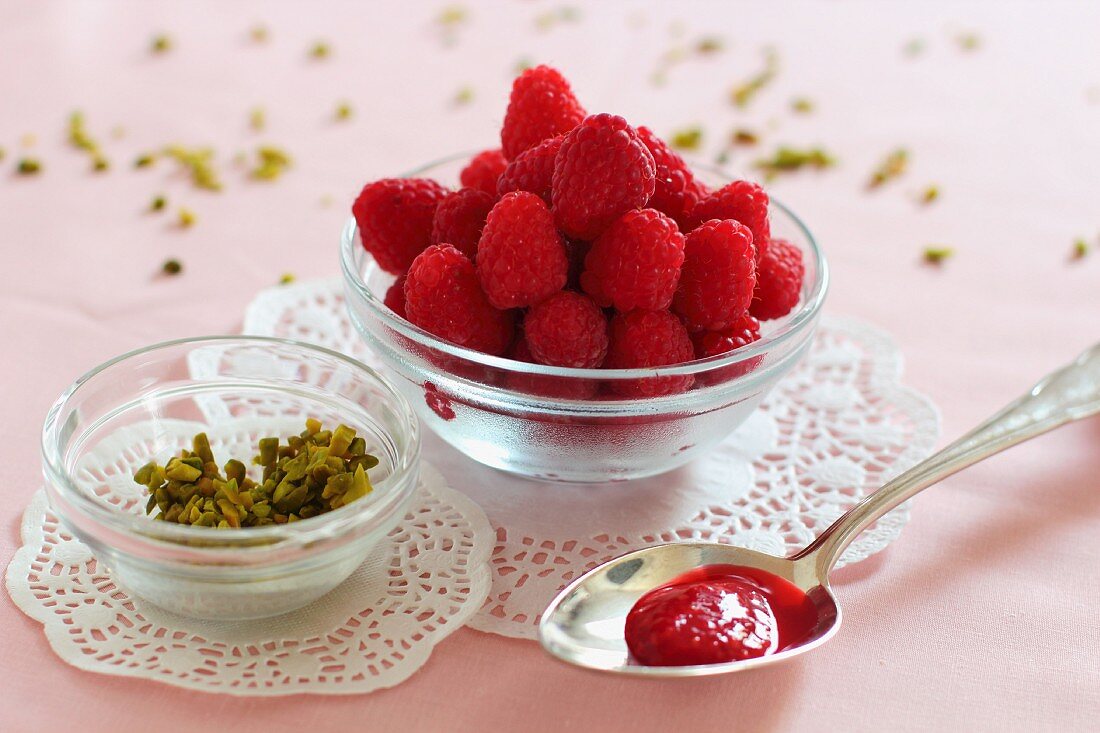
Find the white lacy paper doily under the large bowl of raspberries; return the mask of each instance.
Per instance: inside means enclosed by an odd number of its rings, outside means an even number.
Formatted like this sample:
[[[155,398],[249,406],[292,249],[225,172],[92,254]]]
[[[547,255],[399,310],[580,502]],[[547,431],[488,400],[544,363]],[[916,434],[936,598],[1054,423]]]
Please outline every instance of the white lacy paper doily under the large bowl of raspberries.
[[[318,343],[378,366],[354,331],[338,281],[264,291],[244,332]],[[425,455],[481,504],[496,530],[493,589],[469,622],[535,638],[554,593],[623,553],[676,539],[730,543],[774,555],[803,547],[891,477],[932,452],[935,406],[902,386],[901,355],[882,331],[824,318],[806,359],[708,456],[652,479],[550,485],[485,468],[425,431]],[[857,562],[898,538],[903,505],[853,543]]]

